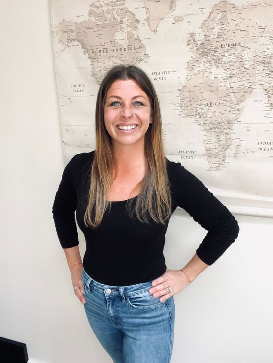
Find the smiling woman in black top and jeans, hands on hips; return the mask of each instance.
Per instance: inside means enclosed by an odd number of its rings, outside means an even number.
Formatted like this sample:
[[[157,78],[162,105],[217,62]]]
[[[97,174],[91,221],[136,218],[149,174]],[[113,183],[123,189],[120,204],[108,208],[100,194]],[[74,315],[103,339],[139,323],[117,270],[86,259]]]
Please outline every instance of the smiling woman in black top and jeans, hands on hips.
[[[238,224],[201,181],[165,158],[159,101],[140,68],[118,65],[105,75],[95,117],[96,150],[67,164],[53,205],[73,289],[113,362],[167,363],[173,296],[234,242]],[[163,248],[177,206],[208,233],[189,263],[171,270]]]

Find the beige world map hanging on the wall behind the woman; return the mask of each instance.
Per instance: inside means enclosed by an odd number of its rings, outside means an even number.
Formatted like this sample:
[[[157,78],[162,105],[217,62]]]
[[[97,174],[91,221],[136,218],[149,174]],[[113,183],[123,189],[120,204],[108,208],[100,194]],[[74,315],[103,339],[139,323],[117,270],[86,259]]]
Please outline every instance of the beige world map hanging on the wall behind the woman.
[[[140,66],[164,148],[233,213],[273,217],[273,0],[51,0],[66,161],[95,148],[105,72]]]

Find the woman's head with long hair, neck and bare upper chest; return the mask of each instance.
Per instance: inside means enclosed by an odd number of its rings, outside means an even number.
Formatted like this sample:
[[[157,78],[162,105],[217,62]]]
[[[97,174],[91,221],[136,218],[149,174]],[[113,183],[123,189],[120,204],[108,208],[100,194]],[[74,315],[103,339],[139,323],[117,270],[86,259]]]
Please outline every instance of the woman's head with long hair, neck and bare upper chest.
[[[171,195],[159,100],[149,77],[133,65],[113,67],[96,103],[96,150],[85,224],[98,226],[111,201],[129,200],[129,215],[164,223]],[[136,126],[136,127],[135,127]],[[155,187],[157,186],[157,187]]]

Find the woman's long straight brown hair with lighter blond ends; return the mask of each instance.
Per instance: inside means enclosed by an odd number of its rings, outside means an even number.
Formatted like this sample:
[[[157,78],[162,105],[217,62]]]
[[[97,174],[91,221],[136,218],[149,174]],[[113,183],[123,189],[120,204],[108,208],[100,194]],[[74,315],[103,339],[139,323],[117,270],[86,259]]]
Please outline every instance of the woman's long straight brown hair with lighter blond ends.
[[[145,134],[146,174],[132,190],[140,188],[136,196],[127,202],[127,212],[141,222],[149,223],[153,219],[165,224],[171,216],[171,194],[167,175],[166,158],[163,150],[162,122],[160,104],[153,84],[146,73],[135,65],[117,65],[111,68],[100,85],[96,102],[96,150],[92,162],[88,203],[84,214],[85,225],[97,228],[104,213],[111,208],[107,200],[115,170],[111,137],[104,124],[104,105],[106,93],[116,80],[135,80],[147,94],[152,110],[152,124]],[[131,194],[132,194],[131,193]]]

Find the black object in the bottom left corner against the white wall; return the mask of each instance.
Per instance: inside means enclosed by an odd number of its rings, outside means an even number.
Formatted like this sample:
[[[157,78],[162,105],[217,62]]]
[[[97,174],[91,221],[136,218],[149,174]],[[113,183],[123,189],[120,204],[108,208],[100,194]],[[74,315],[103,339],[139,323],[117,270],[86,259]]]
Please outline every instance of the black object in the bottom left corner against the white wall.
[[[27,363],[26,344],[0,337],[0,361],[5,363]]]

